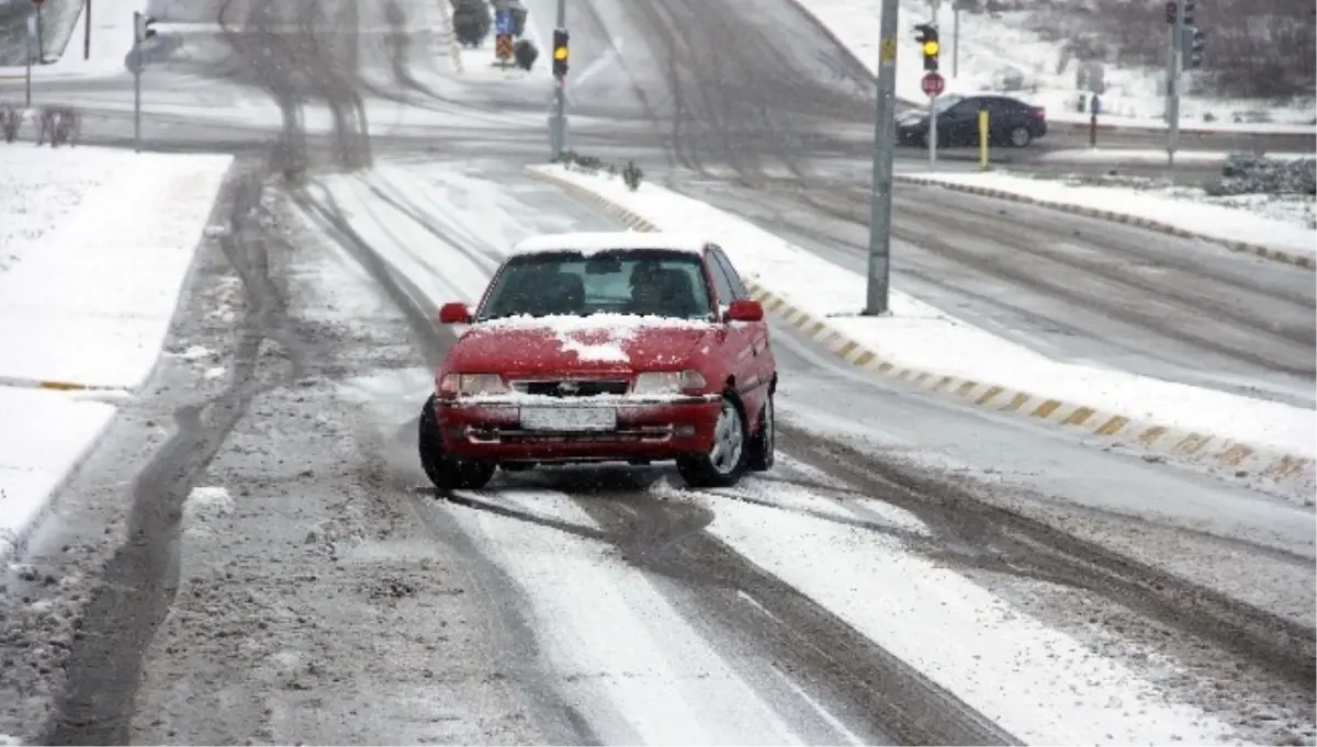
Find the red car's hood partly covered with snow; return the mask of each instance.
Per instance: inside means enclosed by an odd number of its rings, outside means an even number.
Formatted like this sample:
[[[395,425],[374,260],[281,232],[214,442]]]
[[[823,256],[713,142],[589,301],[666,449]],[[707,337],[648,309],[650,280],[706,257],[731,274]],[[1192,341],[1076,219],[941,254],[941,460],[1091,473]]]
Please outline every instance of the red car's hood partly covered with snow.
[[[626,314],[494,320],[458,339],[448,368],[511,376],[673,370],[716,330],[711,322]]]

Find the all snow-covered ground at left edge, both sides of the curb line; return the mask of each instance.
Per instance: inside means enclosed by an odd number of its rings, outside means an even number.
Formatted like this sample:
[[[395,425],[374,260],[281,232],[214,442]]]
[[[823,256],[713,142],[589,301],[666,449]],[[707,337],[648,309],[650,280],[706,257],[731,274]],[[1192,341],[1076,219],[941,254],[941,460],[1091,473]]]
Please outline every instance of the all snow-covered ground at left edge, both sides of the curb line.
[[[230,163],[0,149],[0,555],[154,368]]]

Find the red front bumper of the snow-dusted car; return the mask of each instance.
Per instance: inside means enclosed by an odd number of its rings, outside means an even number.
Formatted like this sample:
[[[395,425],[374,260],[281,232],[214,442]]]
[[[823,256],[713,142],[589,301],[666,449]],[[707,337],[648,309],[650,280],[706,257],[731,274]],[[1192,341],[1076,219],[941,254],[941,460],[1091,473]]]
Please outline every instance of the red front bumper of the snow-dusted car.
[[[594,400],[591,397],[590,400]],[[490,462],[665,462],[707,452],[722,410],[718,395],[680,398],[601,397],[599,401],[527,401],[486,397],[440,400],[436,414],[444,448],[453,456]],[[528,427],[522,409],[602,409],[616,413],[599,430]]]

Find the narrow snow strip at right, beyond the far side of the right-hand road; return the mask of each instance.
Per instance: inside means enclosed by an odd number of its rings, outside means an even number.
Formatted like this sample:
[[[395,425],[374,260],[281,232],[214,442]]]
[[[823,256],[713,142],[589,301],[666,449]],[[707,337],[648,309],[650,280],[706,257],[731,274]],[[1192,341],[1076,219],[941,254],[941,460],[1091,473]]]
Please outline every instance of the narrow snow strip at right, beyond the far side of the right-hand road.
[[[1191,201],[1183,199],[1189,193],[1177,195],[1181,199],[1159,197],[1146,191],[1122,187],[1065,185],[1054,179],[1034,179],[1006,172],[944,172],[910,176],[932,183],[997,189],[1042,203],[1075,205],[1146,218],[1226,242],[1263,245],[1317,260],[1317,228],[1312,224],[1283,222],[1263,214],[1241,210],[1238,205],[1227,205],[1217,200]],[[1312,196],[1295,196],[1295,200],[1276,201],[1305,205],[1305,209],[1295,208],[1289,214],[1312,214],[1313,205],[1317,204],[1317,199]]]

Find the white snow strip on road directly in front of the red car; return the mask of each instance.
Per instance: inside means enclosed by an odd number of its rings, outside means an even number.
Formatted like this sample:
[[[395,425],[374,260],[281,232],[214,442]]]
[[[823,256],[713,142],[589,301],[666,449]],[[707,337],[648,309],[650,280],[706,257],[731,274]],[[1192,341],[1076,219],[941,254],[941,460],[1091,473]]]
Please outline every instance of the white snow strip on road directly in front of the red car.
[[[486,493],[473,498],[490,501]],[[540,519],[598,531],[561,493],[502,491],[493,500]],[[557,673],[558,692],[606,744],[806,747],[834,744],[795,734],[655,588],[614,558],[607,543],[582,541],[527,521],[458,505],[452,513],[479,548],[523,589],[532,630]]]

